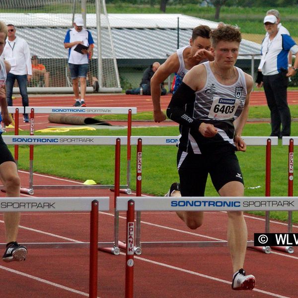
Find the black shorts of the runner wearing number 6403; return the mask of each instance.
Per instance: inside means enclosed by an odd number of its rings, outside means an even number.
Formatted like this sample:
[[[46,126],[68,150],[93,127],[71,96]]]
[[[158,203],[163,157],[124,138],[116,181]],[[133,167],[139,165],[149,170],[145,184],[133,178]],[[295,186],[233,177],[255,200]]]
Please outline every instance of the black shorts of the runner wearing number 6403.
[[[238,158],[233,151],[202,155],[179,149],[177,167],[183,197],[204,197],[208,174],[217,191],[231,181],[244,184]]]

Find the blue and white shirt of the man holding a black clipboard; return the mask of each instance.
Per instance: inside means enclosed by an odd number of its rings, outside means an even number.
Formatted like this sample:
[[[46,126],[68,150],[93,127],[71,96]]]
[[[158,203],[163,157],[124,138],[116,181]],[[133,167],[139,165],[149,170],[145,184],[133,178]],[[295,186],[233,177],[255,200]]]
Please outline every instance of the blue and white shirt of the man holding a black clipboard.
[[[74,41],[82,41],[84,46],[89,46],[94,44],[91,32],[82,29],[80,32],[77,32],[75,28],[69,29],[66,33],[64,43],[70,43]],[[87,54],[80,54],[74,51],[74,48],[77,45],[74,45],[72,48],[69,48],[69,63],[72,64],[88,64],[88,55]]]

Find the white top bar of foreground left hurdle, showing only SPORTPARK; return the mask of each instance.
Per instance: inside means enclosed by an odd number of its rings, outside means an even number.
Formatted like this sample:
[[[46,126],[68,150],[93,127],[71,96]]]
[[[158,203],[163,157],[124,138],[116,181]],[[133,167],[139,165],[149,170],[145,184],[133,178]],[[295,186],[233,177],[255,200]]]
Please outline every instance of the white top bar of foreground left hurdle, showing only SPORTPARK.
[[[0,212],[23,211],[91,211],[92,201],[100,211],[108,211],[109,197],[0,198]]]

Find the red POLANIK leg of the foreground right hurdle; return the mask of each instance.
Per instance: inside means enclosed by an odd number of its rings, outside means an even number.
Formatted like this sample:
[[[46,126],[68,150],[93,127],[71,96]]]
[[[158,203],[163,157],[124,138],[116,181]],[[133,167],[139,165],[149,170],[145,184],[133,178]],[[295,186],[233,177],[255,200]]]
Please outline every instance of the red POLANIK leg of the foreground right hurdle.
[[[135,234],[135,202],[127,202],[126,216],[126,264],[125,264],[125,298],[134,297],[134,234]]]

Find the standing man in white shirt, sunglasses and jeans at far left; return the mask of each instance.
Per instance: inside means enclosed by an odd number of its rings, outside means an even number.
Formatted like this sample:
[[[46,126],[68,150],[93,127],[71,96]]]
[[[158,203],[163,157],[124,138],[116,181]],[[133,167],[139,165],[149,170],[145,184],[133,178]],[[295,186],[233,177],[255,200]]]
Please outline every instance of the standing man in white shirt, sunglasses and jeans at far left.
[[[27,93],[27,82],[32,77],[32,65],[30,49],[27,42],[15,35],[15,27],[8,24],[8,36],[3,50],[2,57],[9,62],[11,70],[6,79],[6,100],[8,106],[12,106],[12,89],[14,81],[17,80],[22,96],[23,107],[29,105]],[[29,122],[28,114],[23,114],[24,122]]]

